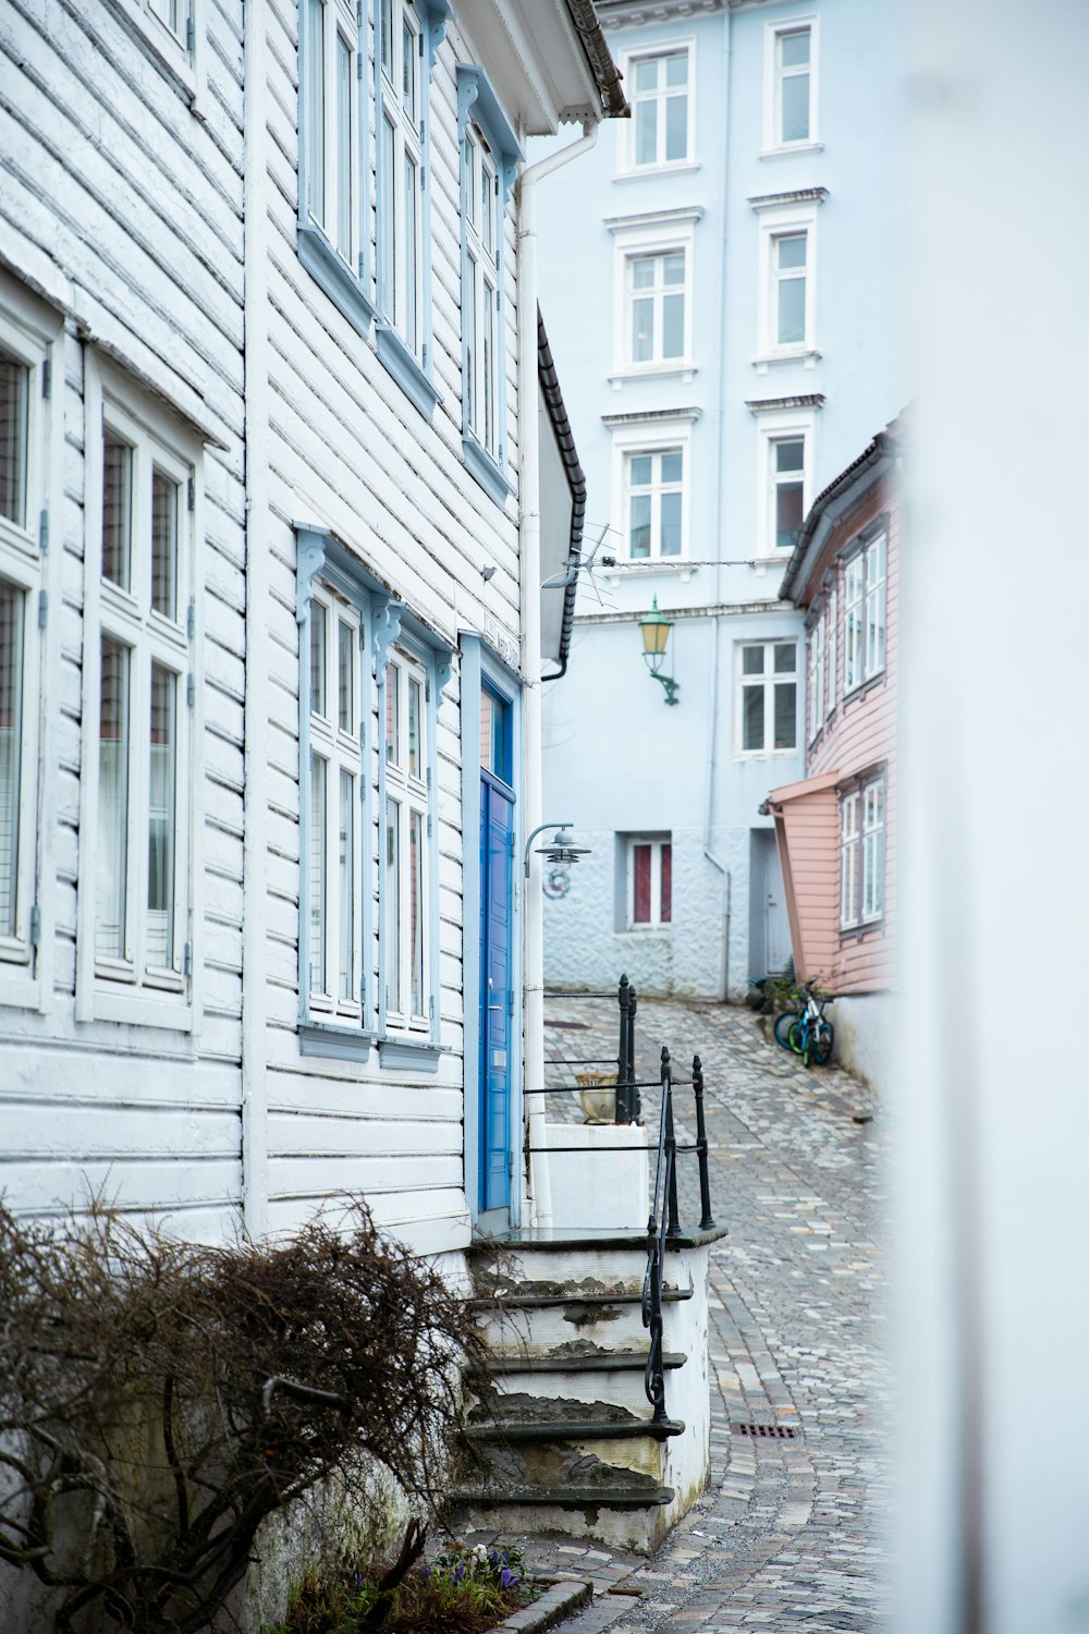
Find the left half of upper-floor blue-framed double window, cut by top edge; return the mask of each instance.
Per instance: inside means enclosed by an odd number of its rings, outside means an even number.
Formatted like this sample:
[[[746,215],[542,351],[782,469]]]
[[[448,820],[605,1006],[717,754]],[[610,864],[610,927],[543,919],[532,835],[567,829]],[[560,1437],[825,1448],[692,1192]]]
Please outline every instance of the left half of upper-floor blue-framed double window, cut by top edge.
[[[369,261],[366,0],[299,0],[299,260],[367,335]]]

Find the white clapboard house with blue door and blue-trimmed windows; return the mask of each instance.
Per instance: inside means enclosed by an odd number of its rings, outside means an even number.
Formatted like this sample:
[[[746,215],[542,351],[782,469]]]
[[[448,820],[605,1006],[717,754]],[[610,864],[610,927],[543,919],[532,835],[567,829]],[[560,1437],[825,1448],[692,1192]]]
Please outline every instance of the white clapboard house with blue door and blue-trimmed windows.
[[[593,7],[10,3],[0,75],[3,1199],[457,1252],[529,1208],[519,173],[622,111]]]

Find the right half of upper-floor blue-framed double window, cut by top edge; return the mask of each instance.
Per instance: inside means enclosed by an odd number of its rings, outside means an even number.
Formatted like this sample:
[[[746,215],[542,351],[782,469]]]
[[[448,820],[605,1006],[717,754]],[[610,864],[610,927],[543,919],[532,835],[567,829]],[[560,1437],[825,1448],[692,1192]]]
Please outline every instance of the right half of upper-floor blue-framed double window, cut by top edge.
[[[377,350],[431,418],[431,70],[447,0],[376,0]]]

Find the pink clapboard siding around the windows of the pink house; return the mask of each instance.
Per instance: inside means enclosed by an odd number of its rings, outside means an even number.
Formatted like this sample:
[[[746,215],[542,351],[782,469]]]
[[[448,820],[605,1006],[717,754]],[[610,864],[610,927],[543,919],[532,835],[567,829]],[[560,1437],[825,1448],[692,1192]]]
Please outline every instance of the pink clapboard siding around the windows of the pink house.
[[[882,515],[888,518],[885,670],[844,696],[841,557],[851,541]],[[831,533],[808,585],[823,587],[828,575],[834,575],[838,588],[836,708],[807,748],[805,779],[776,789],[771,809],[798,974],[807,980],[820,980],[838,993],[865,993],[887,989],[895,979],[900,513],[896,495],[887,482],[877,484]],[[800,596],[800,605],[807,606],[810,600],[807,592]],[[808,699],[805,719],[810,719]],[[841,931],[839,797],[857,786],[857,779],[878,771],[885,778],[883,917],[875,925]]]

